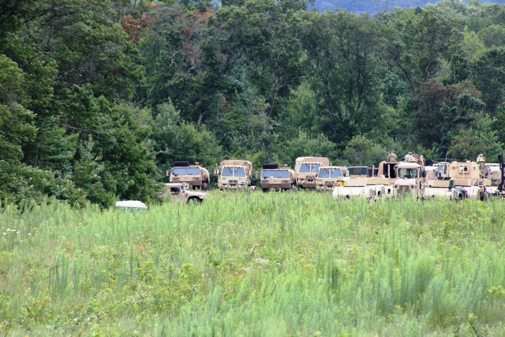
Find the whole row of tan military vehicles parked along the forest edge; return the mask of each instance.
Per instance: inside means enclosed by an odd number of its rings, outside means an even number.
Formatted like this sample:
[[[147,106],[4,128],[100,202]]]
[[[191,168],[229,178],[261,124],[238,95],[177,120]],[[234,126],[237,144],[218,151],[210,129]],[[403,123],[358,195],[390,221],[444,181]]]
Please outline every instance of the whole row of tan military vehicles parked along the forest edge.
[[[394,159],[393,159],[394,160]],[[331,190],[332,196],[341,199],[353,197],[379,200],[386,198],[447,198],[451,200],[485,200],[491,195],[505,197],[503,188],[503,157],[499,163],[486,163],[479,155],[473,161],[441,161],[425,166],[421,155],[413,155],[403,162],[381,162],[378,167],[331,166],[326,157],[299,157],[295,169],[287,165],[264,164],[261,174],[256,172],[264,192],[310,188]],[[190,191],[191,188],[209,189],[209,170],[196,162],[175,162],[167,170],[170,183],[161,196],[171,195],[172,200],[201,202],[209,195]],[[251,186],[252,163],[247,160],[223,160],[214,169],[218,188],[254,189]]]

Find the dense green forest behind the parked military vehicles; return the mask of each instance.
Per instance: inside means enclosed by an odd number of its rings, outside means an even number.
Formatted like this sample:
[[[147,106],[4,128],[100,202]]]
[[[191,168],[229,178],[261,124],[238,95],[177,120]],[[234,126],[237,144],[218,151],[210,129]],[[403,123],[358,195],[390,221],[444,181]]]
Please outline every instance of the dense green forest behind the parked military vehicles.
[[[152,202],[174,160],[503,150],[505,7],[213,4],[0,2],[2,204]]]

